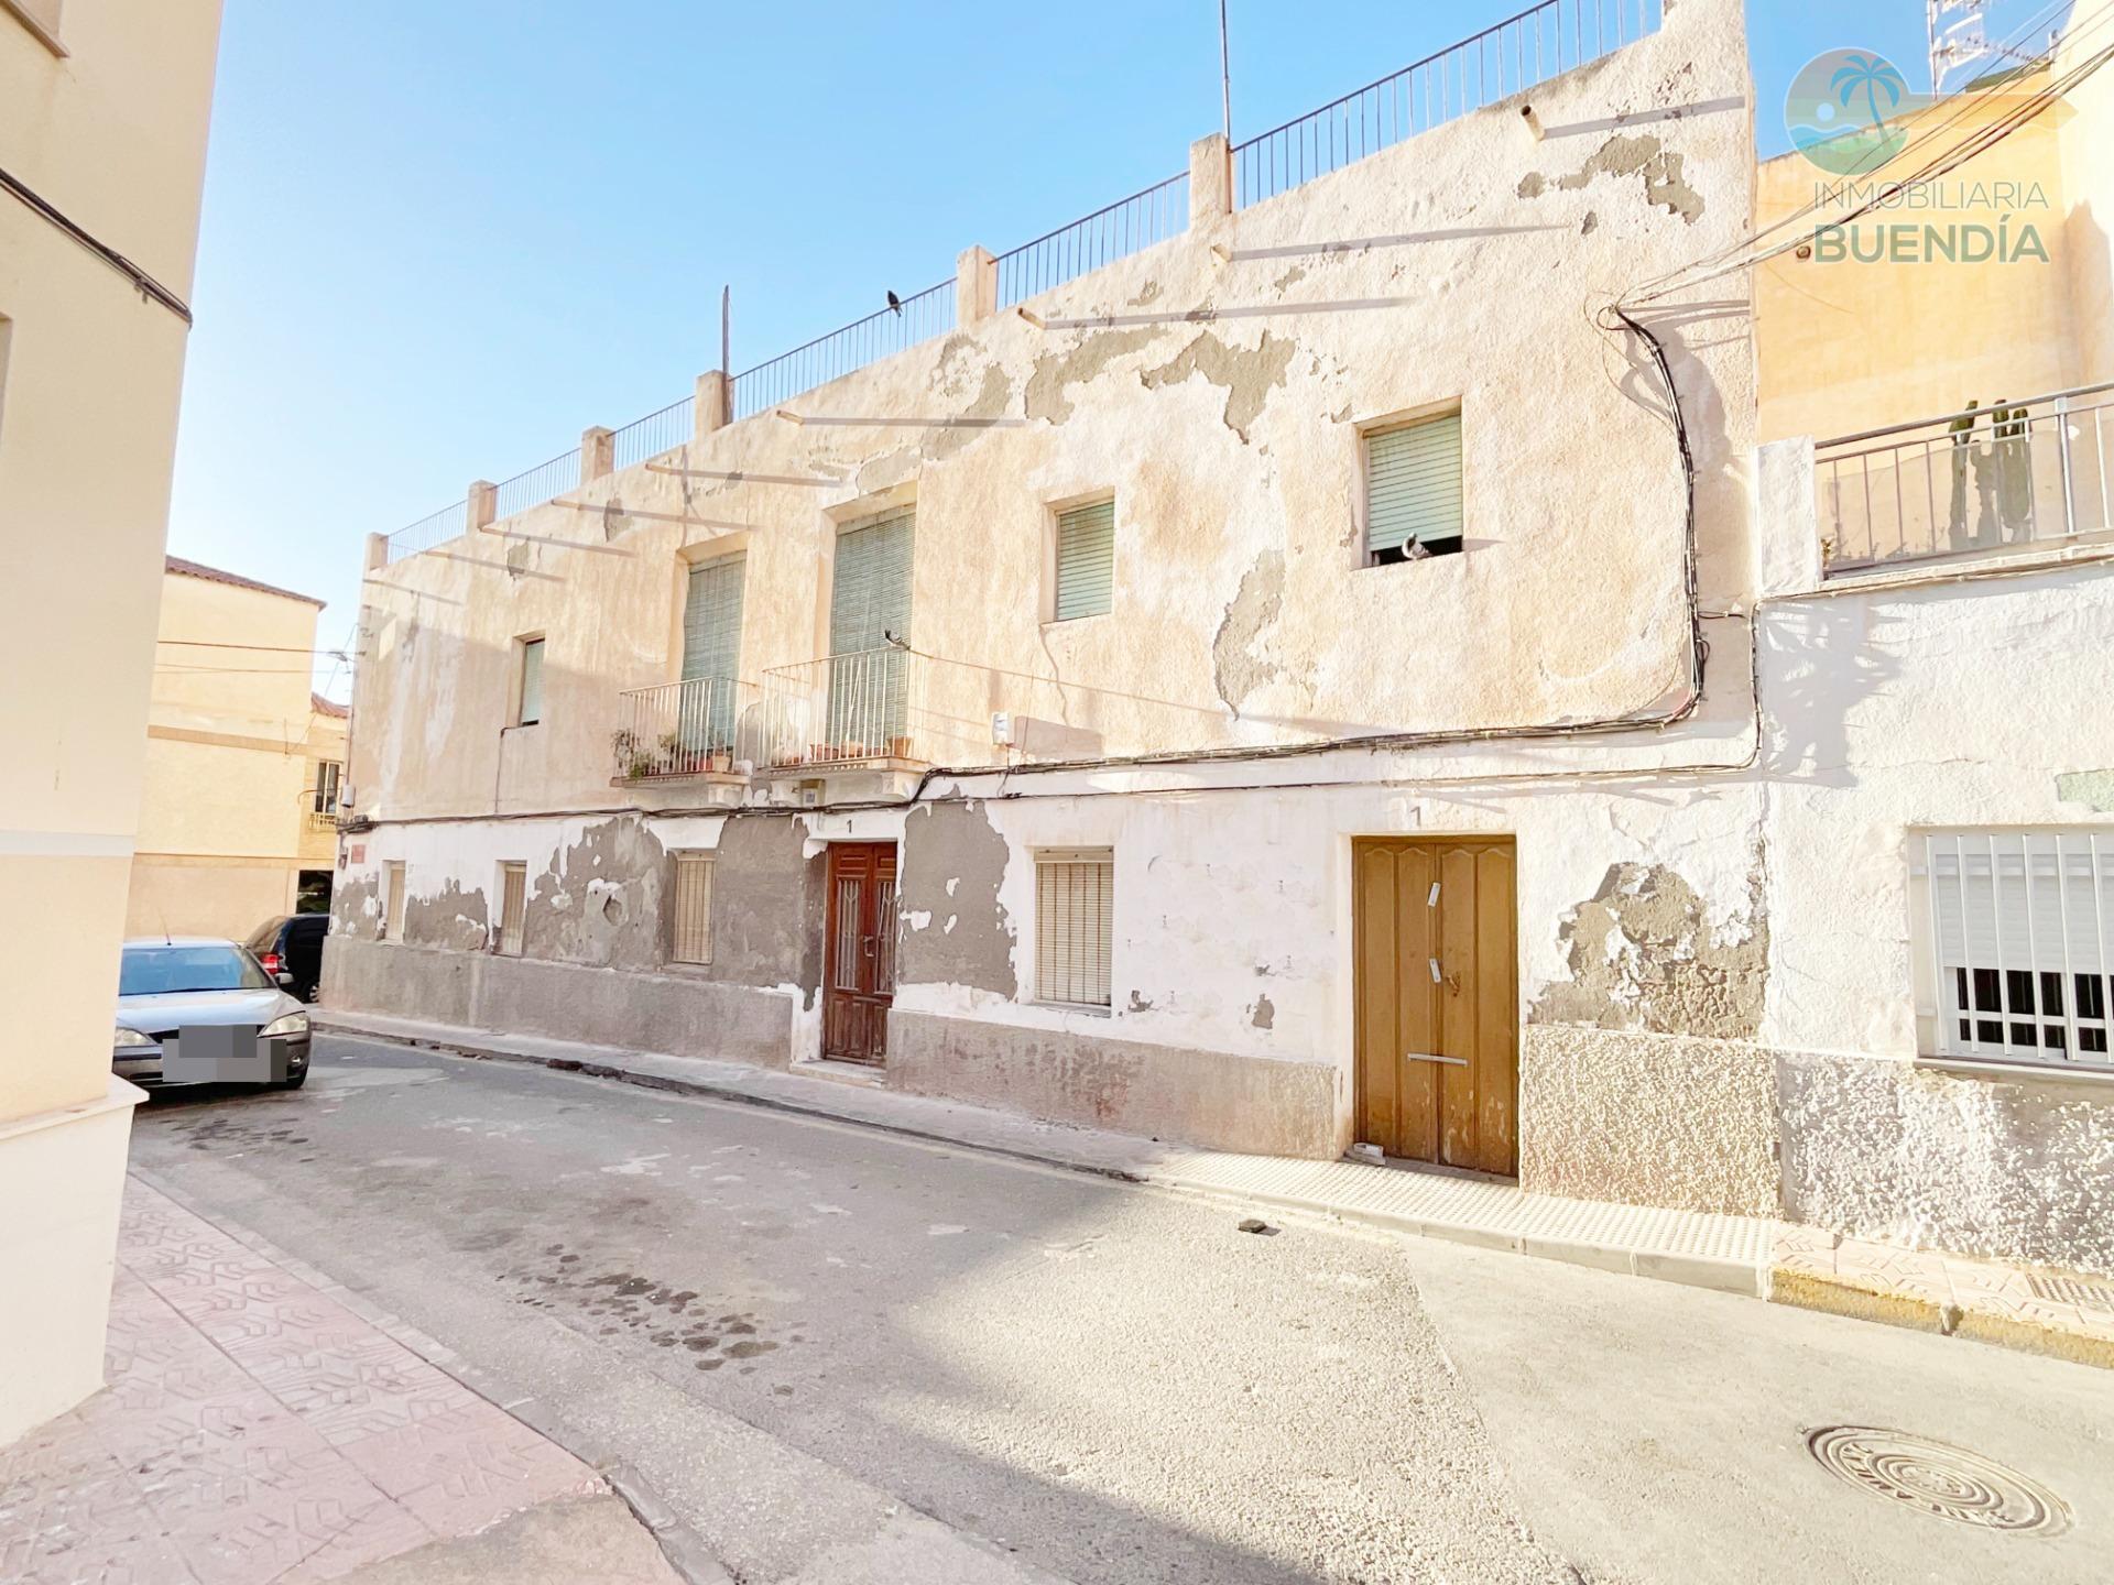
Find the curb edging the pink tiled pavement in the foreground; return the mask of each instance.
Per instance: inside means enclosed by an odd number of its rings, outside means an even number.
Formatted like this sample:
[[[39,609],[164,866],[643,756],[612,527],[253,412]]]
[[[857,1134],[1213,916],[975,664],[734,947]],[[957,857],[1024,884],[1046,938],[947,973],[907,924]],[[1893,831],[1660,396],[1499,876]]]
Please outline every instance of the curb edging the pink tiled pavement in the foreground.
[[[668,1566],[681,1574],[685,1585],[734,1585],[734,1574],[727,1572],[725,1564],[721,1564],[704,1545],[704,1539],[683,1524],[674,1509],[668,1507],[668,1503],[638,1477],[638,1471],[592,1437],[583,1437],[573,1431],[564,1420],[550,1414],[539,1399],[526,1393],[509,1391],[509,1384],[493,1372],[482,1365],[471,1365],[438,1338],[429,1338],[425,1331],[419,1331],[419,1327],[404,1321],[404,1317],[395,1310],[385,1310],[361,1289],[349,1287],[336,1276],[317,1270],[300,1255],[275,1245],[264,1234],[224,1222],[218,1213],[209,1211],[175,1183],[167,1181],[161,1173],[133,1164],[127,1164],[125,1171],[156,1194],[167,1194],[184,1211],[199,1217],[199,1222],[205,1222],[216,1232],[226,1234],[249,1253],[262,1255],[279,1270],[313,1287],[317,1293],[326,1293],[334,1302],[342,1304],[385,1338],[419,1355],[419,1359],[433,1369],[461,1382],[501,1414],[520,1420],[545,1441],[554,1441],[564,1452],[573,1454],[573,1458],[600,1477],[602,1486],[624,1500],[624,1505],[632,1511],[632,1517],[638,1519],[638,1524],[653,1536],[662,1555],[668,1560]]]

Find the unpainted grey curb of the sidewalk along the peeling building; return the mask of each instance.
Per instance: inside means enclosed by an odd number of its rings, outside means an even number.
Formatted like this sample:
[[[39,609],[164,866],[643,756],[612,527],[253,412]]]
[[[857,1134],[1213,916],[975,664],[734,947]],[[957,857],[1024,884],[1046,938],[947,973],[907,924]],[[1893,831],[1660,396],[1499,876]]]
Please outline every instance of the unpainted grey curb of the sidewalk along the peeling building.
[[[1389,1211],[1336,1205],[1330,1200],[1315,1200],[1298,1194],[1277,1194],[1271,1190],[1251,1190],[1251,1188],[1228,1188],[1224,1183],[1199,1181],[1184,1177],[1180,1173],[1154,1171],[1150,1167],[1133,1171],[1125,1167],[1110,1167],[1106,1162],[1076,1160],[1061,1154],[1044,1154],[1008,1145],[983,1143],[977,1139],[962,1139],[958,1135],[934,1133],[930,1129],[909,1129],[903,1124],[848,1116],[843,1112],[831,1112],[820,1105],[801,1105],[799,1101],[789,1101],[778,1095],[757,1095],[753,1090],[744,1090],[731,1084],[715,1084],[704,1078],[689,1080],[689,1078],[674,1078],[668,1074],[643,1074],[636,1069],[617,1067],[613,1063],[598,1063],[573,1057],[541,1057],[535,1052],[507,1050],[503,1046],[482,1046],[461,1040],[423,1040],[419,1036],[408,1036],[408,1033],[378,1033],[374,1029],[364,1029],[357,1023],[336,1023],[328,1017],[315,1019],[313,1014],[311,1023],[319,1031],[351,1036],[355,1040],[376,1040],[389,1046],[406,1046],[410,1050],[438,1050],[442,1055],[465,1057],[469,1061],[499,1061],[499,1063],[522,1063],[528,1067],[548,1067],[560,1074],[583,1074],[588,1078],[607,1078],[619,1084],[634,1084],[647,1090],[693,1095],[708,1101],[734,1101],[740,1105],[755,1105],[765,1112],[782,1112],[791,1116],[835,1122],[848,1129],[871,1129],[875,1133],[888,1133],[903,1139],[917,1139],[922,1143],[947,1145],[949,1150],[975,1150],[985,1156],[1021,1160],[1034,1167],[1055,1167],[1068,1173],[1087,1173],[1118,1183],[1137,1183],[1144,1188],[1175,1190],[1182,1194],[1209,1198],[1220,1205],[1262,1205],[1279,1211],[1298,1211],[1302,1215],[1319,1215],[1340,1224],[1376,1228],[1380,1232],[1410,1234],[1416,1238],[1440,1238],[1446,1243],[1469,1245],[1476,1249],[1499,1249],[1505,1253],[1531,1255],[1539,1260],[1558,1260],[1571,1266],[1588,1266],[1594,1270],[1619,1272],[1626,1276],[1645,1276],[1662,1283],[1681,1283],[1685,1287],[1704,1287],[1717,1293],[1731,1293],[1738,1298],[1761,1300],[1769,1295],[1767,1262],[1723,1260],[1714,1255],[1676,1255],[1653,1249],[1624,1249],[1619,1245],[1594,1245],[1594,1243],[1575,1243],[1564,1238],[1541,1238],[1528,1234],[1495,1232],[1490,1228],[1480,1228],[1461,1222],[1404,1217],[1404,1215],[1393,1215]]]

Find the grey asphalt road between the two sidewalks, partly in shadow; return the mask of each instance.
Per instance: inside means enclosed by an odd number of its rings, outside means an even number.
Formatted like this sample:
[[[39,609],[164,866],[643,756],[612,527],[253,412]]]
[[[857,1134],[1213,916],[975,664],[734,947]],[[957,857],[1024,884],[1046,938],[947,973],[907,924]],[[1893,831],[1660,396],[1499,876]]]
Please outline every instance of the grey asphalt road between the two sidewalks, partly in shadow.
[[[154,1181],[518,1382],[750,1585],[2114,1579],[2114,1374],[376,1042]],[[2048,1484],[1907,1511],[1803,1429]]]

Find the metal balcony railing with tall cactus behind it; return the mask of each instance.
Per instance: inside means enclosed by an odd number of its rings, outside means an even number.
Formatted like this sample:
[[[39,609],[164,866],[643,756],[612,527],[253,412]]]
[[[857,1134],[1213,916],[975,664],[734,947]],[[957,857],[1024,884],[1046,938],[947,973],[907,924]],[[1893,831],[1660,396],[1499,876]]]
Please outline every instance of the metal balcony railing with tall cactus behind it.
[[[1814,446],[1829,575],[2114,528],[2114,385],[1998,402]]]

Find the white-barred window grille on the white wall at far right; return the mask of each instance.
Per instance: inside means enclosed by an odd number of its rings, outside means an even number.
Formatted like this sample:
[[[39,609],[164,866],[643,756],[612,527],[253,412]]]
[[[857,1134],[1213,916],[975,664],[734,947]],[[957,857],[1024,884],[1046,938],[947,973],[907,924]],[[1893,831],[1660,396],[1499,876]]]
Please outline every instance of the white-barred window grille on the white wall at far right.
[[[1922,837],[1936,1052],[2114,1067],[2114,831]]]

